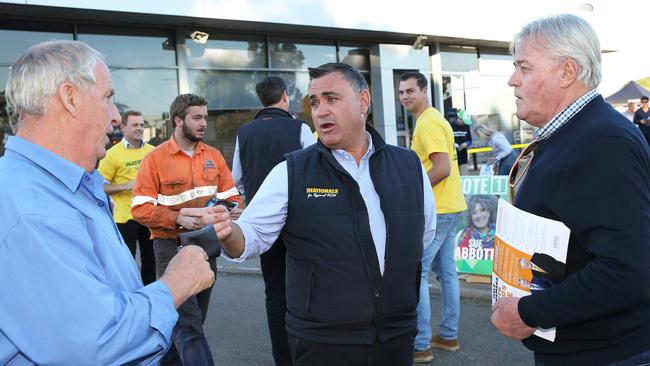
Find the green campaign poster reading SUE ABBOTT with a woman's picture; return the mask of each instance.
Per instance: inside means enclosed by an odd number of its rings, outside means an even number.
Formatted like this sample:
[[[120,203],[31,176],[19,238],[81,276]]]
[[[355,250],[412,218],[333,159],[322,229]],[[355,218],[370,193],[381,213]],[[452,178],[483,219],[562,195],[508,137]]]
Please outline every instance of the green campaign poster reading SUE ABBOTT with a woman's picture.
[[[499,198],[508,200],[508,177],[462,176],[467,211],[456,225],[456,269],[460,273],[492,274]]]

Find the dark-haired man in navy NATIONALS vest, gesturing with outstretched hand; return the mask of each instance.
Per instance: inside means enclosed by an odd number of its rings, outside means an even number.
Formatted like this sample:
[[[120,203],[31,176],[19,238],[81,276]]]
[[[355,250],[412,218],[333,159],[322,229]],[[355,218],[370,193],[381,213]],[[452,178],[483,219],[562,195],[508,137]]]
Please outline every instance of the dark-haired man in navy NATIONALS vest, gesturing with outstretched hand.
[[[237,222],[203,216],[237,261],[287,246],[287,332],[295,365],[413,363],[424,245],[434,199],[412,151],[365,123],[370,93],[352,66],[309,69],[318,143],[287,154]]]

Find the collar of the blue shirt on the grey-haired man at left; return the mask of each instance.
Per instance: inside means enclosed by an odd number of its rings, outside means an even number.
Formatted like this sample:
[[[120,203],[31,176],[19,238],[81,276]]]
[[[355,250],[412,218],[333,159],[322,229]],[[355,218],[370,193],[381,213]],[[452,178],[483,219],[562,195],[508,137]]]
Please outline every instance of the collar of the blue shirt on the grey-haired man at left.
[[[30,160],[46,170],[72,192],[76,192],[79,189],[82,179],[88,177],[88,174],[82,167],[21,137],[10,136],[5,145],[5,149],[22,155],[25,159]]]

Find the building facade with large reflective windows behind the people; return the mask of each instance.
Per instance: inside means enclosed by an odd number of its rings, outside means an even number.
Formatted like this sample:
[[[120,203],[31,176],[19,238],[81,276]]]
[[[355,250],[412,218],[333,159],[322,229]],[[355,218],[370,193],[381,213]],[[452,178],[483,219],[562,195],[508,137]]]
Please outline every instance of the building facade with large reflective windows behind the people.
[[[11,134],[4,111],[9,67],[27,47],[52,39],[80,40],[105,55],[118,109],[143,112],[145,139],[170,135],[169,105],[177,94],[204,96],[205,140],[229,163],[237,128],[261,108],[255,84],[269,75],[282,77],[290,111],[311,122],[307,68],[325,62],[361,70],[371,86],[371,123],[388,143],[410,146],[415,121],[397,97],[399,75],[408,70],[430,78],[432,102],[441,111],[467,109],[475,124],[502,130],[515,143],[526,142],[532,132],[514,117],[508,42],[429,29],[419,23],[421,16],[404,25],[372,23],[379,15],[361,14],[348,24],[341,20],[344,13],[325,1],[85,1],[83,8],[79,3],[0,2],[0,151]]]

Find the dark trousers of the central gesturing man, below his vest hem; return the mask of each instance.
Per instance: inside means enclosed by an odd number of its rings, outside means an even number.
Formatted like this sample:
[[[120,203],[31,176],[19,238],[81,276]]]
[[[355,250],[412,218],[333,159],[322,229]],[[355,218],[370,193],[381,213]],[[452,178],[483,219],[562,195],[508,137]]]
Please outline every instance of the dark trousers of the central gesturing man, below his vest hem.
[[[412,366],[414,336],[363,345],[316,343],[289,335],[289,348],[296,366]]]

